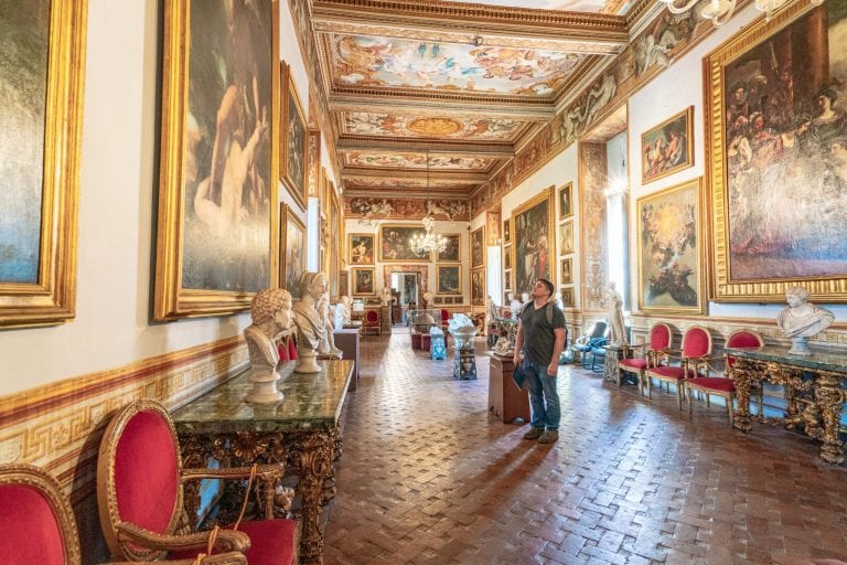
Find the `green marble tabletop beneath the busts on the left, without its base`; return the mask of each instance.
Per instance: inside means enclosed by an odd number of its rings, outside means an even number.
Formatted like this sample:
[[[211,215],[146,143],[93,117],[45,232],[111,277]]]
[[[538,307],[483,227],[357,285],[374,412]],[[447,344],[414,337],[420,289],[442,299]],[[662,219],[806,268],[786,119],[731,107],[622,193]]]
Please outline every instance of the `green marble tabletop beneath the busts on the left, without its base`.
[[[294,373],[294,364],[296,361],[280,363],[277,388],[286,395],[282,401],[245,402],[253,387],[246,370],[174,412],[176,431],[227,434],[334,428],[353,375],[353,361],[319,361],[320,373]]]

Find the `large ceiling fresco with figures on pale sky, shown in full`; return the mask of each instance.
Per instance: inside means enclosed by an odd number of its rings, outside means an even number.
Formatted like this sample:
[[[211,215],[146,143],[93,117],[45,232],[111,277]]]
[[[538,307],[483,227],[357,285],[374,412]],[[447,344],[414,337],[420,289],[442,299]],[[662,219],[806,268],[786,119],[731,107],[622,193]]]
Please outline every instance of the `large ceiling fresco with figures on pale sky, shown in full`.
[[[585,58],[564,51],[330,34],[335,87],[554,98]]]

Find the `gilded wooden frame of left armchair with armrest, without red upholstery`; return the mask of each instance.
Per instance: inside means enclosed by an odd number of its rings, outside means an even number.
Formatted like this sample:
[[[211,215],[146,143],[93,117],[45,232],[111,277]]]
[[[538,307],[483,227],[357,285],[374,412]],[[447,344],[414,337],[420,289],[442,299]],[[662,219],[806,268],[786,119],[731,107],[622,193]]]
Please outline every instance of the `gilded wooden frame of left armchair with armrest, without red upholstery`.
[[[127,424],[141,412],[154,412],[159,414],[167,423],[171,439],[175,448],[176,471],[179,484],[174,499],[174,508],[171,511],[170,523],[167,533],[160,534],[139,527],[136,524],[121,520],[117,492],[115,488],[115,461],[118,449],[118,443]],[[97,508],[100,515],[100,526],[109,552],[114,557],[124,558],[129,562],[139,561],[159,561],[169,551],[197,550],[197,553],[206,553],[208,547],[211,531],[193,532],[182,534],[186,531],[185,525],[189,518],[184,511],[183,488],[186,482],[199,481],[202,479],[247,479],[251,476],[253,469],[248,467],[233,467],[222,469],[183,469],[182,456],[180,452],[180,443],[176,437],[176,430],[173,426],[168,411],[156,401],[139,399],[127,406],[112,416],[100,441],[100,450],[97,459]],[[262,507],[265,508],[265,519],[274,518],[274,495],[277,481],[285,475],[282,463],[261,465],[257,467],[256,480],[262,482]],[[288,509],[285,509],[288,510]],[[190,530],[191,527],[189,527]],[[298,527],[299,532],[299,527]],[[294,540],[294,557],[297,562],[297,550],[299,548],[299,536]],[[206,557],[203,564],[235,565],[246,564],[246,557],[243,555],[250,547],[250,540],[244,532],[234,530],[219,530],[215,537],[213,555],[216,561],[210,561]],[[165,562],[182,563],[182,562]],[[193,559],[185,562],[194,563]]]

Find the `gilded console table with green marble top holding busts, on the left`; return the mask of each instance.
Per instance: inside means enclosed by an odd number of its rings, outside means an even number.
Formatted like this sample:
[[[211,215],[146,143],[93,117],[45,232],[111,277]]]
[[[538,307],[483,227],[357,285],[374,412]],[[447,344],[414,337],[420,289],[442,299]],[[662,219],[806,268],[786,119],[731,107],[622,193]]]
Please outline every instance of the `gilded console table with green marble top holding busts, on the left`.
[[[293,361],[281,363],[279,403],[244,402],[251,388],[245,371],[173,413],[184,467],[205,467],[210,457],[222,467],[285,462],[298,477],[303,564],[323,563],[321,511],[335,494],[332,462],[341,455],[339,418],[353,375],[353,361],[318,364],[320,373],[301,374]]]

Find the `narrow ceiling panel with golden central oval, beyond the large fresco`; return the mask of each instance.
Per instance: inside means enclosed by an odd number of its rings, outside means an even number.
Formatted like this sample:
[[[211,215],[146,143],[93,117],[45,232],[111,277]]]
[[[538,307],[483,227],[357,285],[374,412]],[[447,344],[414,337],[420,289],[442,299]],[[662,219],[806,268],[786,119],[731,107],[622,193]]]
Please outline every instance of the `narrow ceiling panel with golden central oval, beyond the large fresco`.
[[[397,139],[451,139],[463,141],[512,141],[526,122],[462,116],[431,117],[417,114],[372,114],[349,111],[342,115],[342,134]]]

